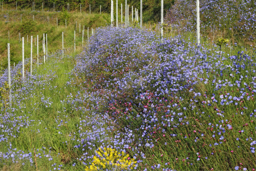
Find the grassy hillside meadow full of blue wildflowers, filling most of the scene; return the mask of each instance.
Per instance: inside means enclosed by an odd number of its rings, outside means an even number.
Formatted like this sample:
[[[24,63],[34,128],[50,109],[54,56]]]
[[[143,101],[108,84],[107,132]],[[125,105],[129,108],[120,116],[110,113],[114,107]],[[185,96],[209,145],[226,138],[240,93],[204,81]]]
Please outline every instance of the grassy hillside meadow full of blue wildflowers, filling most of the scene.
[[[0,170],[256,169],[253,29],[239,38],[202,24],[198,46],[183,20],[166,24],[161,39],[160,24],[112,28],[106,13],[12,10],[6,22],[6,12],[0,12],[0,57],[5,69],[10,30],[16,65],[11,87],[7,70],[0,78]],[[48,33],[51,52],[38,67],[33,60],[32,75],[26,59],[24,79],[18,32],[25,56],[30,35],[39,35],[41,56]]]

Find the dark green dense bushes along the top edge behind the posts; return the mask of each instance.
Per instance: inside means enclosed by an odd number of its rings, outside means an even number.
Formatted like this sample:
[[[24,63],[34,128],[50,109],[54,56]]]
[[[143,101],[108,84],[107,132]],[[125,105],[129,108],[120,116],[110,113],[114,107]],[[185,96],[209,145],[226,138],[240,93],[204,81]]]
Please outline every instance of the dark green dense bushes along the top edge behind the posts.
[[[16,4],[18,4],[18,9],[24,8],[32,8],[32,2],[30,0],[9,0],[8,4],[10,7],[16,8]],[[89,12],[89,6],[91,5],[91,10],[94,12],[101,11],[109,13],[111,9],[111,1],[108,0],[75,0],[75,1],[66,1],[66,0],[36,0],[35,2],[35,10],[42,10],[42,3],[44,2],[45,10],[53,10],[53,3],[55,3],[55,10],[61,11],[62,8],[67,9],[67,4],[70,4],[71,11],[80,11],[80,4],[82,5],[82,10]],[[152,0],[143,0],[143,17],[144,22],[148,22],[151,20],[159,21],[160,20],[160,0],[152,1]],[[125,0],[118,1],[119,13],[121,4],[123,4],[123,14],[124,14],[124,4]],[[140,1],[139,0],[127,0],[127,4],[130,6],[130,12],[132,11],[132,6],[140,10]],[[170,6],[174,4],[174,0],[164,1],[164,9],[165,12],[170,8]],[[114,9],[116,9],[116,3],[114,2]]]

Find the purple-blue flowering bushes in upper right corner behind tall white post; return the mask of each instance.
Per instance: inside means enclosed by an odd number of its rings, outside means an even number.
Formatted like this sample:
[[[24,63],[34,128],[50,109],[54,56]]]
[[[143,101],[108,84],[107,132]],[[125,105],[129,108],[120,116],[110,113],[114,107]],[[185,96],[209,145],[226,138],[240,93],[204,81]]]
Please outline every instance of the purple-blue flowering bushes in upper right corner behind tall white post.
[[[245,37],[254,40],[256,37],[256,4],[249,1],[200,0],[201,33],[216,30],[225,31],[227,36]],[[188,32],[196,31],[196,1],[177,0],[165,17],[172,27]]]

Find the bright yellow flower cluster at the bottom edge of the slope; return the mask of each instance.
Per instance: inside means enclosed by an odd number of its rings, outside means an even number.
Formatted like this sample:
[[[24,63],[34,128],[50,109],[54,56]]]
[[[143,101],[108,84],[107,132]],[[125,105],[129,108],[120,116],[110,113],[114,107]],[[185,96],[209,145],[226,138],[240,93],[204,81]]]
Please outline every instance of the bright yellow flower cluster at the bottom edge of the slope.
[[[92,165],[86,167],[86,171],[98,170],[100,168],[120,168],[131,169],[135,167],[137,163],[134,159],[128,159],[129,154],[125,155],[124,152],[118,153],[115,149],[112,148],[98,148],[98,151],[95,152],[98,156],[93,157]]]

